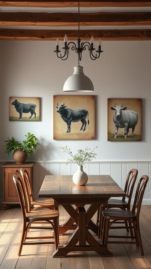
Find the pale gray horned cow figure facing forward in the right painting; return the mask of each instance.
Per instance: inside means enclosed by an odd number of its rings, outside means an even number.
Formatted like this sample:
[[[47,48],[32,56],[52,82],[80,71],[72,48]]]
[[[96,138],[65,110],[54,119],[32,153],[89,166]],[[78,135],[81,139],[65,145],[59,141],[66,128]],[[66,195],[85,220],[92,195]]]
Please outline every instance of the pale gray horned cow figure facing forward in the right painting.
[[[115,110],[113,116],[113,122],[116,130],[114,138],[117,138],[118,128],[124,128],[125,138],[127,138],[129,129],[132,128],[132,136],[134,136],[134,130],[138,123],[137,112],[133,110],[126,111],[127,107],[123,107],[123,102],[121,105],[116,105],[114,102],[114,107],[110,107],[111,110]]]

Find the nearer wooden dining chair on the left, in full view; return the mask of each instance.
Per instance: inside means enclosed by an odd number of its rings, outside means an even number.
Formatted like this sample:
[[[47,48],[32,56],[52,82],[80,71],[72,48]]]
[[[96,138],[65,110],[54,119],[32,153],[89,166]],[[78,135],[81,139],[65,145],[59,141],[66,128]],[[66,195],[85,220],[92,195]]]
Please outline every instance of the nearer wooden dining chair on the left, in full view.
[[[24,190],[24,185],[22,180],[20,179],[19,176],[14,175],[13,180],[16,185],[16,189],[18,192],[19,200],[20,200],[20,205],[21,205],[21,210],[23,213],[23,227],[22,227],[22,233],[21,233],[21,240],[20,240],[20,246],[19,246],[19,252],[18,256],[21,254],[21,250],[23,245],[35,245],[35,244],[51,244],[55,243],[55,249],[58,247],[58,240],[59,240],[59,229],[58,229],[58,218],[59,218],[59,211],[58,210],[50,210],[50,209],[37,209],[35,211],[29,211],[28,210],[28,205],[27,205],[27,197],[26,197],[26,192]],[[35,228],[31,227],[31,223],[35,222],[45,222],[51,224],[50,227],[53,227],[53,236],[34,236],[34,237],[27,237],[28,230],[29,228]],[[50,227],[40,227],[44,229],[50,229]],[[50,240],[45,240],[45,239],[50,239],[54,238],[54,242]],[[34,241],[32,241],[34,239]],[[39,242],[35,241],[35,239],[43,239]],[[26,241],[30,240],[30,241]]]

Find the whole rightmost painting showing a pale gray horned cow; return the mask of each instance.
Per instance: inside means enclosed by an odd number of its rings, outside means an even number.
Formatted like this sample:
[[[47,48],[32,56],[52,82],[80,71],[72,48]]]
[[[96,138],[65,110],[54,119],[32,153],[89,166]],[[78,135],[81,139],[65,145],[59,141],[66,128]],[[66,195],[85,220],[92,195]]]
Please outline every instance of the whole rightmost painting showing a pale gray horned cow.
[[[108,98],[107,141],[141,141],[142,99]]]

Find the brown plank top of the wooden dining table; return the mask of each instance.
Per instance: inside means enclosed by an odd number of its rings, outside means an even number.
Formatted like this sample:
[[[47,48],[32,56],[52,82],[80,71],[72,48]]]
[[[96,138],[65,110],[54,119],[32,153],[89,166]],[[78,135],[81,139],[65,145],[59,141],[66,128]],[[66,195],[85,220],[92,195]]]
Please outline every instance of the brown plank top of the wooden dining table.
[[[82,198],[121,197],[126,193],[109,175],[88,175],[85,186],[73,183],[72,176],[45,176],[38,197]]]

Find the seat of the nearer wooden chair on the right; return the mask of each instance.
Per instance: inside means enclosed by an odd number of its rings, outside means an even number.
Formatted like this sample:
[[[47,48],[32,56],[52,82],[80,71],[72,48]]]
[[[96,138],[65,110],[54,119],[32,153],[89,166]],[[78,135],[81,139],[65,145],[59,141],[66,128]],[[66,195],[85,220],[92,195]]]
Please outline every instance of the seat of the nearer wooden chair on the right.
[[[135,212],[120,209],[105,209],[102,211],[102,214],[105,218],[111,220],[132,220],[136,217]]]

